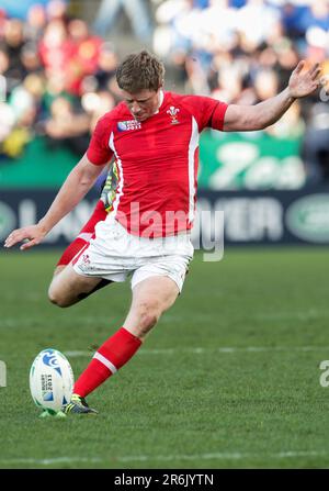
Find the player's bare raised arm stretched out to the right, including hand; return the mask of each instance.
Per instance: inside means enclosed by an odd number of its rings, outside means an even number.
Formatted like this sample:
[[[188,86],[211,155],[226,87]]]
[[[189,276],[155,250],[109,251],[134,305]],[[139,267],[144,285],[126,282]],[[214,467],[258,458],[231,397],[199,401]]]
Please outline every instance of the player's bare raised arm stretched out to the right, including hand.
[[[223,131],[256,131],[274,124],[296,99],[309,96],[319,87],[319,64],[303,71],[305,62],[298,63],[292,72],[288,86],[277,96],[256,105],[228,105]]]

